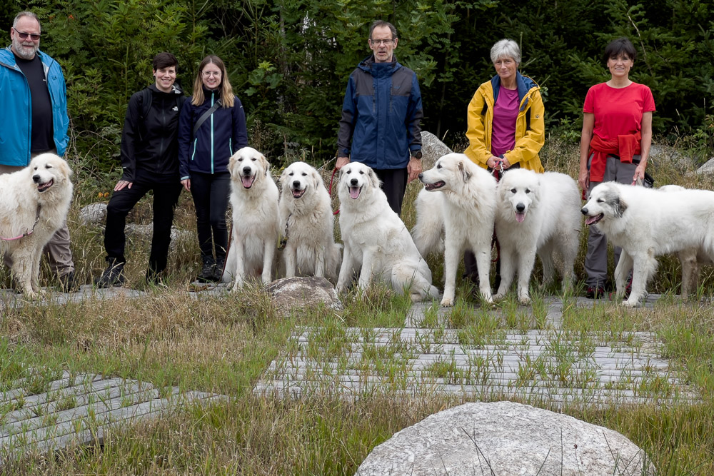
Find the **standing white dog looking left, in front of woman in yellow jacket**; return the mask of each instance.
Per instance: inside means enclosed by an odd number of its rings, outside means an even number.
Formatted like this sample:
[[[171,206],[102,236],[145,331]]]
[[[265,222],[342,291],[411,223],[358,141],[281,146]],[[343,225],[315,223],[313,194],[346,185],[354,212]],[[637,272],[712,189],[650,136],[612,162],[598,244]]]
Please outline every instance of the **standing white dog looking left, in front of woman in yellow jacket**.
[[[470,249],[476,255],[478,288],[488,303],[491,298],[491,283],[488,273],[491,268],[491,238],[496,214],[496,178],[471,162],[463,153],[449,153],[439,158],[433,168],[419,174],[419,180],[428,192],[441,192],[441,207],[436,210],[418,211],[418,216],[443,216],[444,239],[444,295],[441,305],[453,305],[456,293],[456,268],[463,251]],[[422,202],[425,203],[425,202]],[[435,203],[429,201],[426,203]],[[438,243],[433,238],[441,235],[438,221],[430,220],[425,225],[417,221],[414,235],[429,243]],[[432,237],[431,240],[428,237]],[[421,248],[428,245],[422,242]]]

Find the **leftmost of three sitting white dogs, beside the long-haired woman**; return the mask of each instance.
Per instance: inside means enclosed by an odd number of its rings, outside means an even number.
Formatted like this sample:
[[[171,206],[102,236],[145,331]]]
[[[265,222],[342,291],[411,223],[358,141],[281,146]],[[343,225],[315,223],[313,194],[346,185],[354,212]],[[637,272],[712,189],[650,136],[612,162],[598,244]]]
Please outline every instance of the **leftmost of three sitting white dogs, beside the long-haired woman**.
[[[221,280],[238,290],[248,276],[271,282],[280,224],[278,186],[262,153],[243,147],[228,162],[231,173],[233,234]]]

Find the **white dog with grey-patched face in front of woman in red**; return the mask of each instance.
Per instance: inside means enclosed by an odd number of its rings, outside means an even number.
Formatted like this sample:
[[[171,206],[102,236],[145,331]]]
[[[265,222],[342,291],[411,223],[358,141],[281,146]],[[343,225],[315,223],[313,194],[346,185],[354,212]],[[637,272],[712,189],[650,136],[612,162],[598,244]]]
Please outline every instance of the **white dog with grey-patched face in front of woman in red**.
[[[587,225],[598,226],[613,245],[622,248],[615,268],[616,298],[623,297],[632,269],[632,290],[623,303],[630,308],[646,297],[647,281],[657,269],[655,257],[686,250],[714,256],[714,193],[710,191],[668,192],[604,182],[593,188],[581,211]]]

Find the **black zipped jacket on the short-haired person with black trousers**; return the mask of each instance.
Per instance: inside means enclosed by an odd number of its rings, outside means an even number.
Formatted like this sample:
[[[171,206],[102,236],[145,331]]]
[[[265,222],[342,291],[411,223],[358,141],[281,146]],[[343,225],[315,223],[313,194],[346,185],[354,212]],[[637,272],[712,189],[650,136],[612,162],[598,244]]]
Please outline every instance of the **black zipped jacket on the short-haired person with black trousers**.
[[[137,177],[178,181],[178,115],[186,96],[176,84],[164,93],[152,84],[151,107],[144,107],[144,90],[129,99],[121,133],[122,180]],[[146,111],[146,116],[145,112]]]

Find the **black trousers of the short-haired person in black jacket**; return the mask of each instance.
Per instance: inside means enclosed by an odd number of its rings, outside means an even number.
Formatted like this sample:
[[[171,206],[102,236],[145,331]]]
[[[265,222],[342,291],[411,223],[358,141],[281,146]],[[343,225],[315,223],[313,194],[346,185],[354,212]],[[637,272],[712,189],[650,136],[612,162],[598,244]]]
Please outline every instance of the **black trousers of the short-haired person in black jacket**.
[[[154,234],[151,237],[151,254],[149,269],[159,273],[166,269],[171,243],[171,224],[174,223],[174,210],[181,195],[181,183],[177,181],[154,181],[151,178],[136,178],[131,188],[122,188],[112,193],[109,205],[106,207],[106,229],[104,231],[104,248],[108,259],[126,263],[124,246],[126,236],[126,216],[136,202],[154,191]]]

